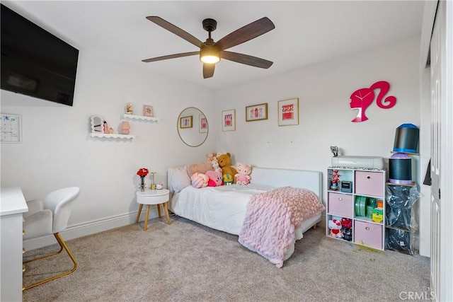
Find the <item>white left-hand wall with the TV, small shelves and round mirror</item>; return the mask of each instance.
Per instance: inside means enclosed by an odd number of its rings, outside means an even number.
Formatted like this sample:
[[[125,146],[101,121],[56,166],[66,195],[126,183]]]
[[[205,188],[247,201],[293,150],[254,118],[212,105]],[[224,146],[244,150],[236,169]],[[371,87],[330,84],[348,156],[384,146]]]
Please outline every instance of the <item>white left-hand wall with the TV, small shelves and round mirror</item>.
[[[180,111],[190,106],[202,110],[212,126],[213,99],[206,88],[81,50],[74,107],[1,91],[1,112],[22,115],[23,122],[23,142],[1,144],[1,187],[20,186],[25,199],[34,199],[79,186],[70,226],[121,217],[133,222],[139,168],[156,171],[156,180],[166,184],[169,166],[200,161],[214,150],[213,132],[205,144],[192,148],[180,141],[176,129]],[[88,136],[91,115],[103,116],[116,132],[127,102],[138,115],[142,105],[152,105],[160,122],[130,122],[132,141]]]

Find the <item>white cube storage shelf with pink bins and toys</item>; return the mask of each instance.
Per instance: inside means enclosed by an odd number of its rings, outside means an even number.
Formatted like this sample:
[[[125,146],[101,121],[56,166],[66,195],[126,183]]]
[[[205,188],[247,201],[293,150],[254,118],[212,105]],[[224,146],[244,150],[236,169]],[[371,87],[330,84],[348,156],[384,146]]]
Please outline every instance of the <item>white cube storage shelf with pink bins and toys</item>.
[[[331,185],[334,170],[336,188]],[[326,236],[384,250],[386,170],[328,167],[327,175]],[[329,221],[340,223],[342,230],[331,231]]]

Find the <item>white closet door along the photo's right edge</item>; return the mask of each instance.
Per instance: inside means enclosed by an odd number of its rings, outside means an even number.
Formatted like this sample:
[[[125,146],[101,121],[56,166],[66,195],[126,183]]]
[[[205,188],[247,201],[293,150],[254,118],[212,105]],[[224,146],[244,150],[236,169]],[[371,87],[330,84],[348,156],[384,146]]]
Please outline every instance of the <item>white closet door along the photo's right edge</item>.
[[[430,44],[431,61],[431,291],[437,301],[453,301],[453,248],[449,229],[453,151],[453,4],[439,1]],[[449,98],[449,100],[447,100]]]

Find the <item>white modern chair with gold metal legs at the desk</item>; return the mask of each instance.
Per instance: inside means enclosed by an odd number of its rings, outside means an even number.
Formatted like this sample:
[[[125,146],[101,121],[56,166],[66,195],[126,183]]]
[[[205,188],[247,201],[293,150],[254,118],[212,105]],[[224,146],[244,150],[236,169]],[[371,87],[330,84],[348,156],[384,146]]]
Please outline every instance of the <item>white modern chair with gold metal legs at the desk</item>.
[[[26,260],[23,263],[57,255],[64,249],[67,251],[69,257],[71,257],[74,267],[67,272],[57,274],[54,277],[39,281],[35,284],[23,286],[23,291],[44,284],[48,281],[55,280],[59,277],[66,276],[76,270],[77,262],[74,255],[72,255],[72,252],[69,250],[66,243],[64,243],[64,240],[59,232],[67,228],[72,205],[74,204],[75,199],[79,196],[79,193],[79,187],[65,187],[47,194],[44,202],[39,199],[27,202],[28,212],[23,214],[23,231],[25,231],[23,239],[38,238],[53,234],[59,243],[60,249],[58,252],[52,252],[47,255],[35,257],[33,259]]]

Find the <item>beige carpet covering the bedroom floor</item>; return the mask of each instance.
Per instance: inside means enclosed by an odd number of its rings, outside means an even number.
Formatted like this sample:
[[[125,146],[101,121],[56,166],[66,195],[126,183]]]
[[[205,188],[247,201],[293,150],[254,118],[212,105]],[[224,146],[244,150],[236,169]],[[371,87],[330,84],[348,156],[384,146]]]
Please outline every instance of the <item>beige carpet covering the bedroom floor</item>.
[[[68,240],[79,267],[24,291],[23,301],[401,301],[428,291],[430,261],[420,255],[360,248],[316,228],[278,269],[237,236],[171,219]],[[71,267],[63,253],[52,258],[27,265],[25,284],[41,269]]]

